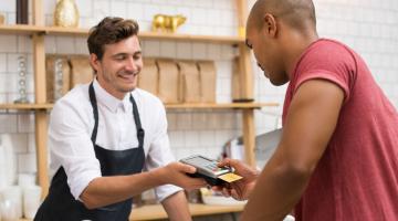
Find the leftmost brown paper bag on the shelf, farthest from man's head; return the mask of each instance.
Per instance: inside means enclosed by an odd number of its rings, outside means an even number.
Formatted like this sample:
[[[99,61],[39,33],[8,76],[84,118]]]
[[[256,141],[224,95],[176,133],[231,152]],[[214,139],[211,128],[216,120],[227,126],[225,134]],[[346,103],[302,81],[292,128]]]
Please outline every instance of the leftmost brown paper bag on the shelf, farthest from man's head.
[[[54,103],[70,91],[71,67],[66,56],[45,57],[46,101]]]

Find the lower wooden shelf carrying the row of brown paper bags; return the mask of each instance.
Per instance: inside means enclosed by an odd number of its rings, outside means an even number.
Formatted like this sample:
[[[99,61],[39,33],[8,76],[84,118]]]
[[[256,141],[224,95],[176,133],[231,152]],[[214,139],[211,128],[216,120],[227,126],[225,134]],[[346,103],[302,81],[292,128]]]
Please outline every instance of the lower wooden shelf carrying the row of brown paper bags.
[[[0,109],[51,109],[54,104],[0,104]],[[277,103],[166,104],[167,109],[259,109]]]

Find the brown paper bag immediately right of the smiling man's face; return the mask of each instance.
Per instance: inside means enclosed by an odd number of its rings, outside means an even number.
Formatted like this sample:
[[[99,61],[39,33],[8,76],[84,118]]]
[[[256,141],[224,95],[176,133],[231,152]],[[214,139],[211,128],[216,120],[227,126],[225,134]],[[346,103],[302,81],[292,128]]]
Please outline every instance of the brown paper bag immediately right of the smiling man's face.
[[[144,59],[144,69],[138,74],[138,87],[158,95],[159,70],[155,59]]]

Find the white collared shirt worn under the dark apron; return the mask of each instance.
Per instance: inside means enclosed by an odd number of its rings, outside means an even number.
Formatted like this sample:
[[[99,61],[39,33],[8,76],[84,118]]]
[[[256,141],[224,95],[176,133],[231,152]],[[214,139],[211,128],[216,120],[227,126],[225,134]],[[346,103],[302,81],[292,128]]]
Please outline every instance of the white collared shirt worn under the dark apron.
[[[67,176],[67,185],[75,199],[97,177],[101,177],[100,161],[95,157],[91,140],[94,128],[93,108],[90,103],[88,85],[77,85],[59,99],[51,112],[49,126],[49,148],[52,173],[62,166]],[[112,96],[94,80],[94,91],[98,106],[98,131],[96,145],[105,149],[123,150],[138,147],[137,128],[133,116],[133,105],[127,94],[123,101]],[[174,161],[167,136],[165,106],[156,96],[136,88],[133,91],[145,130],[144,170],[150,170]],[[180,191],[172,185],[155,189],[157,199]]]

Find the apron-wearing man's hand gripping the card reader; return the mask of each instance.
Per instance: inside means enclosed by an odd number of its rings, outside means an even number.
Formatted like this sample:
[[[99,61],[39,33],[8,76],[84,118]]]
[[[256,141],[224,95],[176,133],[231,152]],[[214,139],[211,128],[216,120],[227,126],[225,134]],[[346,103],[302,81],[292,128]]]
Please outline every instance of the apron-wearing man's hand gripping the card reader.
[[[206,187],[202,178],[191,178],[187,173],[195,173],[196,168],[181,162],[170,162],[164,167],[164,178],[167,183],[181,187],[186,190],[199,189]]]

